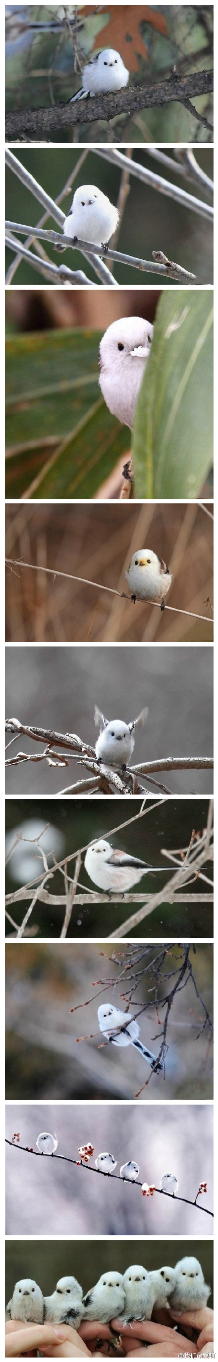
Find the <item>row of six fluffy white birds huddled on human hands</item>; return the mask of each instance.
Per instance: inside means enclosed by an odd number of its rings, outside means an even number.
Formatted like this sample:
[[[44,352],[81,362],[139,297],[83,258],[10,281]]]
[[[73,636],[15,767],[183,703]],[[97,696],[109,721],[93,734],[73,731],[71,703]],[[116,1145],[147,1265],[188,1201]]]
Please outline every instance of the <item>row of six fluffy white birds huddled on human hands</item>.
[[[60,1278],[53,1295],[45,1295],[37,1282],[24,1278],[16,1282],[7,1310],[11,1320],[35,1324],[50,1321],[69,1324],[74,1329],[85,1320],[107,1324],[119,1318],[150,1320],[153,1308],[172,1306],[175,1310],[199,1310],[207,1305],[210,1287],[206,1286],[200,1263],[184,1257],[175,1268],[162,1267],[148,1272],[141,1264],[126,1272],[102,1272],[99,1282],[83,1295],[74,1276]]]

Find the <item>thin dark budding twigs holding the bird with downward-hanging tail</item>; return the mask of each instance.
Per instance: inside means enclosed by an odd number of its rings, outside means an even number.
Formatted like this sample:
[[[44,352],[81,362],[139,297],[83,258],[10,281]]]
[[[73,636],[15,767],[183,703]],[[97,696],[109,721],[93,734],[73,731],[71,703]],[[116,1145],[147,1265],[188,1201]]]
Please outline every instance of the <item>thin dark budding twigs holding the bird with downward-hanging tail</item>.
[[[160,1049],[158,1054],[156,1056],[156,1060],[158,1064],[160,1062],[162,1064],[164,1077],[165,1077],[165,1058],[168,1053],[168,1023],[169,1023],[171,1009],[173,1007],[176,996],[181,992],[181,989],[186,989],[190,981],[192,983],[194,992],[196,993],[196,997],[200,1002],[203,1012],[203,1020],[200,1024],[200,1030],[196,1034],[196,1041],[206,1030],[209,1032],[209,1041],[210,1042],[213,1041],[213,1022],[209,1009],[199,993],[194,968],[190,960],[190,952],[191,949],[196,952],[196,947],[192,948],[191,944],[188,943],[186,945],[176,948],[181,951],[181,956],[180,955],[177,956],[179,964],[176,964],[176,967],[173,967],[171,971],[167,972],[164,971],[164,966],[171,952],[173,953],[175,949],[173,944],[169,944],[167,947],[165,945],[158,947],[154,955],[152,955],[153,949],[154,948],[153,947],[150,948],[149,945],[144,947],[126,945],[126,949],[123,949],[123,952],[121,952],[119,955],[116,955],[116,952],[112,951],[110,960],[112,964],[118,966],[119,972],[110,979],[108,978],[96,979],[95,983],[97,985],[97,994],[95,996],[92,994],[91,998],[88,998],[85,1002],[77,1004],[70,1011],[77,1012],[80,1008],[88,1007],[91,1002],[95,1001],[95,997],[99,997],[102,993],[107,993],[108,989],[110,992],[111,989],[115,990],[116,986],[121,985],[122,990],[125,992],[121,992],[119,998],[122,1000],[122,1002],[123,1001],[126,1002],[126,1012],[129,1012],[130,1007],[133,1005],[133,1000],[138,989],[138,985],[141,985],[141,982],[146,978],[146,975],[149,977],[152,975],[153,986],[149,985],[149,993],[152,993],[153,997],[152,1000],[149,1000],[149,1002],[137,1002],[135,1000],[137,1012],[133,1011],[133,1020],[138,1022],[138,1017],[141,1017],[144,1012],[149,1012],[149,1009],[152,1009],[156,1013],[157,1026],[161,1027],[160,1012],[165,1008],[162,1028],[160,1032],[157,1032],[157,1035],[152,1036],[153,1041],[156,1041],[157,1036],[160,1039]],[[104,952],[100,952],[100,955],[104,955]],[[146,960],[148,963],[144,964],[144,960]],[[169,990],[165,989],[162,996],[162,987],[165,986],[165,983],[168,985],[171,979],[172,979],[172,986],[169,987]],[[91,1035],[79,1036],[77,1039],[87,1041],[92,1039],[92,1036]],[[106,1046],[108,1045],[107,1039],[104,1041],[104,1045]],[[135,1092],[135,1098],[141,1096],[141,1092],[144,1092],[144,1090],[148,1087],[154,1073],[156,1069],[150,1069],[149,1079],[146,1079],[142,1088],[139,1088],[139,1091]]]

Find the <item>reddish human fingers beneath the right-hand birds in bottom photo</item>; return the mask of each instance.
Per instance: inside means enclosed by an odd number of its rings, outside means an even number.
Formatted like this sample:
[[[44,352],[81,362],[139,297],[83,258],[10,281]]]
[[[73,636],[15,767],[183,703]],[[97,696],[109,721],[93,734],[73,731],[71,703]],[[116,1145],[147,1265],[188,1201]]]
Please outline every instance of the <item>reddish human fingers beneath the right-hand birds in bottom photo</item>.
[[[122,1343],[129,1358],[145,1358],[145,1347],[138,1347],[137,1340],[141,1343],[150,1343],[146,1347],[146,1357],[150,1358],[179,1358],[181,1352],[188,1357],[198,1357],[198,1347],[195,1343],[191,1344],[191,1350],[187,1347],[187,1337],[181,1333],[175,1333],[172,1324],[162,1325],[154,1324],[153,1320],[145,1320],[142,1324],[133,1323],[133,1325],[122,1324],[122,1320],[112,1320],[112,1328],[119,1329],[122,1335]]]

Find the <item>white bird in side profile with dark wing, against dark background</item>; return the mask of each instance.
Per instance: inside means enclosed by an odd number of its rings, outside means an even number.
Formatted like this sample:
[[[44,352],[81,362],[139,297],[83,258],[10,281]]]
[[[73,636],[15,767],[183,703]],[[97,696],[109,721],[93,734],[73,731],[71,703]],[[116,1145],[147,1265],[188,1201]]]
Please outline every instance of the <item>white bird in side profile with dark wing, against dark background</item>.
[[[127,893],[131,884],[139,883],[142,874],[158,870],[157,865],[148,865],[146,861],[139,861],[139,857],[118,851],[103,838],[99,842],[92,842],[87,849],[84,865],[93,884],[97,884],[99,889],[104,889],[110,898],[112,891],[114,893]],[[165,870],[165,866],[160,869]]]

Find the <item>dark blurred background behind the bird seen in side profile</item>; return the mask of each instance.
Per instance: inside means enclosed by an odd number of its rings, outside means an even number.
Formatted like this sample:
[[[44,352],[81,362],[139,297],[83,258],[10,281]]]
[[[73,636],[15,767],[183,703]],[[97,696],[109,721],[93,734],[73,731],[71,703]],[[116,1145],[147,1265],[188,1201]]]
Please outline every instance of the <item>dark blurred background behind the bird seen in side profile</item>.
[[[158,805],[157,799],[146,801],[148,809],[144,817],[135,817],[127,828],[122,828],[119,832],[121,823],[125,823],[130,817],[130,801],[123,799],[122,810],[121,804],[116,799],[95,799],[95,805],[89,799],[76,799],[69,802],[68,799],[7,799],[5,801],[5,889],[7,893],[16,893],[22,885],[37,883],[37,874],[42,873],[42,858],[37,846],[34,846],[34,839],[39,838],[39,843],[47,857],[47,864],[51,866],[56,861],[61,861],[69,857],[72,851],[77,851],[79,847],[85,846],[95,838],[107,836],[110,839],[111,829],[118,828],[118,832],[112,835],[112,846],[127,851],[130,855],[138,855],[139,859],[148,861],[150,865],[167,866],[165,874],[156,877],[146,874],[145,887],[150,893],[160,891],[162,888],[162,903],[150,915],[146,917],[146,940],[153,941],[153,936],[169,936],[177,937],[181,934],[181,940],[198,937],[213,937],[213,903],[198,902],[198,891],[209,896],[210,880],[213,880],[211,862],[206,861],[203,868],[203,878],[194,878],[188,885],[190,903],[183,902],[183,891],[180,889],[180,900],[175,904],[168,903],[164,898],[164,885],[168,878],[171,880],[171,861],[162,857],[164,849],[168,851],[175,851],[176,849],[187,850],[192,829],[195,828],[196,838],[202,835],[203,828],[207,825],[209,816],[209,801],[207,799],[165,799]],[[141,799],[134,799],[134,814],[139,813]],[[148,812],[150,810],[150,812]],[[46,827],[49,824],[49,827]],[[43,831],[46,829],[46,831]],[[42,835],[43,834],[43,835]],[[20,839],[22,840],[18,840]],[[12,851],[14,847],[14,851]],[[53,853],[53,854],[51,854]],[[179,859],[179,857],[177,857]],[[68,864],[68,872],[72,874],[73,862]],[[91,880],[84,868],[84,858],[80,870],[80,885],[85,889],[91,889]],[[138,889],[142,887],[138,885]],[[57,870],[56,876],[47,885],[50,892],[54,895],[57,892],[64,896],[64,883],[61,872]],[[93,889],[93,883],[92,883]],[[187,887],[186,887],[187,889]],[[79,891],[77,891],[79,892]],[[196,895],[196,902],[194,902],[194,895]],[[9,907],[9,914],[16,919],[16,923],[22,923],[24,911],[27,907],[26,900],[20,899],[14,902]],[[68,928],[68,937],[80,940],[81,937],[99,938],[99,934],[104,940],[111,932],[116,934],[118,926],[123,922],[126,913],[133,913],[133,904],[125,907],[114,902],[96,904],[91,902],[85,906],[79,906],[74,903],[72,911],[70,923]],[[34,911],[28,919],[26,928],[26,936],[38,937],[60,937],[62,922],[65,915],[65,902],[64,906],[46,904],[37,900]],[[144,923],[145,932],[145,923]],[[5,918],[5,934],[12,936],[11,921]],[[130,936],[138,940],[139,928],[131,928]]]

